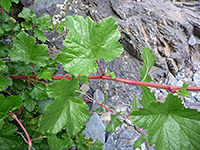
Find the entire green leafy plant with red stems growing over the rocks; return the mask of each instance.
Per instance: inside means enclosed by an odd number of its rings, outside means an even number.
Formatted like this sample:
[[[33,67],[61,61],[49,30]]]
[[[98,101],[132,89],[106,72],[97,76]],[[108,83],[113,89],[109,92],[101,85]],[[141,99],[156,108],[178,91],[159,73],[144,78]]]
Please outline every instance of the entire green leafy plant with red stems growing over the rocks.
[[[26,30],[34,29],[36,25],[41,30],[49,26],[48,19],[45,21],[47,24],[39,25],[34,12],[27,8],[23,9],[19,17],[25,18],[21,25]],[[87,82],[87,79],[105,79],[141,86],[143,95],[140,104],[143,108],[137,110],[135,97],[132,112],[129,116],[123,115],[134,125],[148,129],[147,135],[139,128],[142,135],[134,146],[139,147],[148,139],[149,144],[155,144],[156,149],[200,148],[200,113],[184,108],[181,98],[174,94],[169,94],[164,103],[157,102],[154,93],[146,86],[163,88],[183,96],[188,95],[188,90],[200,91],[199,87],[187,87],[184,84],[181,89],[149,83],[151,78],[148,73],[156,62],[149,48],[144,48],[142,53],[144,65],[140,69],[141,81],[104,73],[98,59],[112,61],[123,52],[118,42],[118,26],[113,17],[96,24],[89,17],[67,16],[63,26],[69,29],[63,43],[66,48],[55,59],[49,58],[47,45],[36,44],[34,37],[21,30],[13,38],[13,48],[1,52],[0,149],[25,149],[27,145],[29,149],[69,149],[74,145],[78,149],[102,149],[101,142],[92,143],[93,140],[85,138],[82,132],[90,118],[85,101],[114,113],[107,131],[114,131],[121,124],[117,116],[123,114],[80,97],[80,93],[77,93],[79,82]],[[70,77],[54,75],[57,62],[70,73]],[[102,74],[88,76],[97,72],[97,67]],[[19,136],[26,136],[28,141]]]

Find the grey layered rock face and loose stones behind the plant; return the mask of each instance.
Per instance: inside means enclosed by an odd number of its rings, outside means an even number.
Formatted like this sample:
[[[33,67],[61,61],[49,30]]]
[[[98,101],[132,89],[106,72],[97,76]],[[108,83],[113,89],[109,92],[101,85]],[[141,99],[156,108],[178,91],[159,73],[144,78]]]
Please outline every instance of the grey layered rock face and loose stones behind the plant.
[[[52,21],[60,22],[66,15],[90,16],[98,22],[108,16],[114,16],[121,32],[120,42],[124,52],[119,58],[106,63],[99,60],[102,68],[115,71],[117,77],[139,80],[139,67],[142,65],[141,52],[143,47],[154,51],[158,62],[151,70],[153,82],[181,86],[186,82],[190,86],[200,86],[200,1],[183,0],[21,0],[22,4],[41,13],[49,13]],[[48,33],[50,54],[55,57],[63,48],[65,34],[55,31]],[[58,74],[64,74],[59,65]],[[100,74],[100,72],[98,72]],[[138,86],[112,81],[91,80],[91,91],[100,103],[103,94],[108,95],[106,102],[110,108],[128,114],[131,109],[133,93],[140,99],[141,90]],[[164,101],[168,91],[151,88],[160,101]],[[93,94],[91,94],[93,95]],[[94,97],[93,97],[94,98]],[[102,98],[102,100],[100,100]],[[191,92],[190,98],[184,98],[186,107],[200,111],[200,92]],[[140,105],[139,105],[140,107]],[[97,107],[94,106],[95,110]],[[87,125],[87,136],[105,143],[104,150],[132,150],[133,143],[140,136],[139,131],[128,123],[123,123],[115,133],[93,133],[98,126],[109,123],[110,113],[92,115]],[[101,117],[101,119],[99,118]],[[96,118],[96,119],[94,119]],[[124,118],[121,118],[124,119]],[[103,122],[101,122],[103,120]],[[94,125],[95,124],[95,125]],[[105,128],[105,127],[103,127]],[[103,129],[102,128],[102,129]],[[90,131],[91,130],[91,131]],[[142,149],[154,149],[147,143]]]

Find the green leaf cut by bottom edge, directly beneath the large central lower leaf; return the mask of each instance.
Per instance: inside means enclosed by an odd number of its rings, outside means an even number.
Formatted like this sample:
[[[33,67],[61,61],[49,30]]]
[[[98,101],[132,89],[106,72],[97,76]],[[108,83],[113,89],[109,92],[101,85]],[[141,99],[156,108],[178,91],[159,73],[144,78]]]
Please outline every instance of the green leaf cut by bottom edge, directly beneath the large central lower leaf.
[[[74,141],[67,135],[63,135],[63,139],[57,138],[56,135],[48,137],[50,150],[67,150],[74,146]]]

